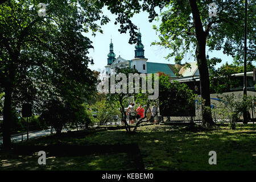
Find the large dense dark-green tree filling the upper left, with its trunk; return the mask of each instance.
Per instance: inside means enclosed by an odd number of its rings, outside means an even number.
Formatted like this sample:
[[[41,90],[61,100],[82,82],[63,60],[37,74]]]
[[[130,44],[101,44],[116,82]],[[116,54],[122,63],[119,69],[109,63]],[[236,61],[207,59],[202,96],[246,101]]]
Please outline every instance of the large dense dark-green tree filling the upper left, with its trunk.
[[[19,103],[32,102],[30,94],[42,94],[44,98],[53,95],[72,103],[89,97],[96,82],[88,69],[92,60],[86,56],[88,49],[93,48],[92,42],[81,32],[91,30],[93,35],[102,32],[96,21],[100,20],[101,25],[109,21],[100,15],[102,3],[46,1],[46,16],[38,15],[39,3],[10,0],[0,4],[0,88],[5,93],[5,147],[11,144],[11,111],[18,98]],[[33,101],[35,106],[43,102],[38,98]]]

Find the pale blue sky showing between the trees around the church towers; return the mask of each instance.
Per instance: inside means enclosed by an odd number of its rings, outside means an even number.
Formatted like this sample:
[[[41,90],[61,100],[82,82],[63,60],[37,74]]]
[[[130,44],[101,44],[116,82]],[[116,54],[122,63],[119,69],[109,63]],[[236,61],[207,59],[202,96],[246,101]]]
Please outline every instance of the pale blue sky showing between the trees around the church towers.
[[[93,42],[93,49],[90,49],[89,56],[93,57],[94,65],[89,65],[89,68],[92,70],[98,71],[99,69],[104,69],[107,64],[108,53],[109,53],[109,44],[110,39],[112,38],[112,43],[114,44],[114,53],[117,58],[119,55],[124,59],[131,60],[134,58],[134,46],[135,44],[129,44],[129,32],[126,34],[120,34],[118,32],[119,24],[115,25],[116,15],[112,15],[109,10],[104,8],[104,14],[107,15],[110,19],[110,22],[105,26],[102,26],[103,34],[97,33],[96,36],[92,36],[91,33],[84,34]],[[170,61],[164,59],[165,56],[170,52],[169,49],[165,49],[160,46],[150,46],[152,42],[159,40],[158,35],[156,35],[156,31],[153,30],[152,25],[156,24],[158,26],[160,22],[153,21],[152,23],[148,22],[148,13],[141,12],[139,14],[134,15],[131,19],[132,22],[139,26],[140,32],[142,34],[142,43],[144,45],[144,55],[148,59],[149,62],[155,63],[167,63],[174,64],[174,58],[170,59]],[[208,50],[208,48],[207,48]],[[233,58],[231,56],[224,55],[222,51],[213,51],[208,53],[209,58],[218,57],[222,59],[222,63],[220,65],[228,62],[232,63]],[[185,63],[185,61],[192,62],[195,61],[193,57],[187,53],[181,63]]]

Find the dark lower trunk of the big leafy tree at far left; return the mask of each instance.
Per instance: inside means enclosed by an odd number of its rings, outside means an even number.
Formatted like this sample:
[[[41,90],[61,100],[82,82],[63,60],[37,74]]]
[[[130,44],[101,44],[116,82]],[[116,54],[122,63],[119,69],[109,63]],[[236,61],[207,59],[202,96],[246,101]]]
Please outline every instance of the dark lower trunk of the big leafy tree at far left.
[[[13,93],[11,86],[5,88],[5,101],[3,105],[3,147],[11,146],[11,94]]]

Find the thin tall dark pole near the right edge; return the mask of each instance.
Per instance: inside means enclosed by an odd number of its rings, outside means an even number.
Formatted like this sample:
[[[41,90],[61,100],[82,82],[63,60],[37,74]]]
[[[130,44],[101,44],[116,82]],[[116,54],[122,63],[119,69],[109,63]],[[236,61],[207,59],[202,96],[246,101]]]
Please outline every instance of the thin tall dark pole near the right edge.
[[[243,96],[247,96],[246,88],[246,57],[247,57],[247,0],[245,0],[245,61],[243,65]],[[247,124],[247,111],[243,111],[243,123]]]

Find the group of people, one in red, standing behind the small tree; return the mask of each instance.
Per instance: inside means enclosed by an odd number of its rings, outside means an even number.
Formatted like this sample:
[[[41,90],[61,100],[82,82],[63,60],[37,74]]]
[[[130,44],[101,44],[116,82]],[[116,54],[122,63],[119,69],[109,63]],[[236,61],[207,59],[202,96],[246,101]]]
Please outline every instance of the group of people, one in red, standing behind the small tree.
[[[142,105],[139,105],[139,107],[135,110],[134,103],[130,102],[130,105],[127,107],[127,113],[126,113],[129,118],[129,124],[134,124],[136,117],[137,119],[144,118],[144,111],[145,110]],[[158,111],[158,107],[156,105],[152,107],[152,110],[150,107],[148,107],[146,111],[146,117],[148,122],[150,122],[151,116],[154,116],[154,124],[158,122],[157,111]]]

